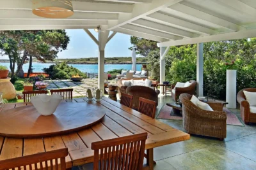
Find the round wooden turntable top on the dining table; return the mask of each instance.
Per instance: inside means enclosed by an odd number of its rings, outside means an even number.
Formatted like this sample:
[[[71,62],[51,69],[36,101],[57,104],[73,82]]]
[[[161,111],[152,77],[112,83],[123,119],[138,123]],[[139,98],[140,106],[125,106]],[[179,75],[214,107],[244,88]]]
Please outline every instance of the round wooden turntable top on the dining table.
[[[88,103],[63,102],[51,116],[42,116],[34,106],[0,112],[0,136],[36,138],[86,129],[105,116],[104,108]]]

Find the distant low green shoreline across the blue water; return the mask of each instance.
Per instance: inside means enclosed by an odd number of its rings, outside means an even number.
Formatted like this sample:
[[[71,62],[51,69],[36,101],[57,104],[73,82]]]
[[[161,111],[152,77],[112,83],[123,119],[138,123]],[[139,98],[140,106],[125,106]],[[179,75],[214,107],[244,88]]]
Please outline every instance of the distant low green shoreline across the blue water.
[[[83,59],[59,59],[59,62],[67,62],[68,64],[98,64],[98,58],[83,58]],[[132,64],[132,57],[111,57],[105,58],[106,64]],[[136,58],[137,64],[147,64],[147,57]]]

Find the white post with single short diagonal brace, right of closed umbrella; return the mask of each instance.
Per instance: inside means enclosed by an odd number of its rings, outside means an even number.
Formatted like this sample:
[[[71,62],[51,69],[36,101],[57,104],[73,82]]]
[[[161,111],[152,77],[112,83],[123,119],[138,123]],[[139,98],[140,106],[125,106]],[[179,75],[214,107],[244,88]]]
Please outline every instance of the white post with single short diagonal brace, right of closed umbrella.
[[[160,83],[163,83],[165,81],[165,55],[168,52],[170,47],[161,47],[160,48]],[[164,92],[164,88],[160,88],[161,94]]]

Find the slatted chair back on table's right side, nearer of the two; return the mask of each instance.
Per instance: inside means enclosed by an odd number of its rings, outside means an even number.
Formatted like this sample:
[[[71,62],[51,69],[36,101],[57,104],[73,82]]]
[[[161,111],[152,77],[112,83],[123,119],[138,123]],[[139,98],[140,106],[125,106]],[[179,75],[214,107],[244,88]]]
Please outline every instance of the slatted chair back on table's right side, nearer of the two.
[[[144,99],[142,97],[139,98],[139,108],[138,111],[147,115],[148,117],[155,118],[156,115],[156,102],[150,101],[148,99]]]

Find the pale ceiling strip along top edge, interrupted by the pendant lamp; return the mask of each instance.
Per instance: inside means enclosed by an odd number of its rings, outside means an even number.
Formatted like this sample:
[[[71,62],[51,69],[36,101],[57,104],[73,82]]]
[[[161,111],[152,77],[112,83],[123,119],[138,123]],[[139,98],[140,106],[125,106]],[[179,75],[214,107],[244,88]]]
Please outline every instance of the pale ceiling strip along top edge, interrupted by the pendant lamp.
[[[104,13],[131,13],[132,5],[129,4],[108,4],[108,3],[92,3],[92,2],[72,2],[74,11],[82,12],[104,12]],[[32,3],[31,0],[8,0],[1,1],[0,9],[10,9],[10,10],[31,10]]]

